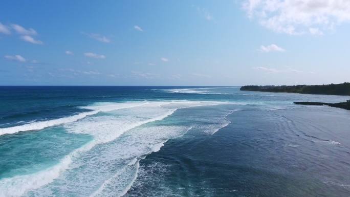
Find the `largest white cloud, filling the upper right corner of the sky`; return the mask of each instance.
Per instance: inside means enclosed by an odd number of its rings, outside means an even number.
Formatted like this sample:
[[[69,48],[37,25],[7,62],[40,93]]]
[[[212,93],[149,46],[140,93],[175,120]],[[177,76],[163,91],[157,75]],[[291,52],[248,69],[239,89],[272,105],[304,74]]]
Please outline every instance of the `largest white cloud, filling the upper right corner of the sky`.
[[[350,21],[349,0],[244,0],[243,8],[260,25],[292,35],[320,34]]]

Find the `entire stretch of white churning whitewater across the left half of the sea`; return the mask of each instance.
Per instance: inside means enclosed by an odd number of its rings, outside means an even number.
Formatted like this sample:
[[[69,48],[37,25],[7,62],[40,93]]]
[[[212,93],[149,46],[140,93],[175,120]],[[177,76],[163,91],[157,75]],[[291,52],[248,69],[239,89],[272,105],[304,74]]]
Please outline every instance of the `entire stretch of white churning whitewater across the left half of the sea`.
[[[94,187],[97,188],[93,192],[92,196],[99,196],[101,193],[106,196],[105,190],[108,189],[108,185],[115,179],[120,179],[116,174],[124,173],[126,176],[127,185],[121,184],[120,195],[127,191],[128,187],[135,181],[137,177],[137,170],[139,167],[139,161],[144,158],[145,155],[151,152],[158,151],[163,144],[171,138],[176,138],[187,132],[190,127],[184,126],[151,126],[146,128],[138,128],[137,132],[143,130],[144,133],[150,133],[150,129],[158,130],[157,134],[154,136],[143,136],[140,138],[133,136],[132,140],[128,141],[122,147],[123,151],[119,153],[114,153],[118,155],[119,160],[122,160],[121,169],[110,172],[101,176],[98,169],[101,167],[98,163],[105,163],[103,159],[110,159],[111,150],[115,148],[109,148],[106,151],[101,151],[101,146],[96,147],[96,145],[104,144],[108,146],[113,146],[108,144],[119,138],[122,134],[127,131],[133,130],[137,127],[145,125],[147,123],[156,122],[163,120],[164,118],[172,115],[175,111],[181,108],[195,107],[195,106],[208,106],[208,105],[218,105],[218,104],[228,104],[228,102],[211,102],[211,101],[140,101],[140,102],[126,102],[126,103],[112,103],[112,102],[102,102],[94,103],[89,106],[83,106],[86,110],[91,110],[91,112],[83,112],[78,115],[71,117],[60,118],[56,120],[48,120],[43,122],[35,122],[20,126],[1,128],[0,134],[14,134],[17,132],[25,132],[30,130],[39,130],[48,128],[51,126],[61,126],[69,133],[84,134],[93,136],[93,140],[84,144],[82,147],[73,150],[69,155],[63,157],[56,165],[42,169],[40,171],[24,174],[19,176],[14,176],[11,178],[4,178],[0,180],[0,196],[46,196],[50,195],[48,191],[53,190],[53,188],[63,187],[63,185],[76,185],[77,182],[72,182],[70,180],[65,180],[64,177],[95,177],[95,179],[101,179],[96,181]],[[227,115],[226,115],[227,116]],[[224,124],[226,123],[225,117],[223,117]],[[215,133],[222,125],[213,125],[212,130]],[[171,132],[169,132],[169,130]],[[136,131],[134,131],[136,132]],[[144,135],[144,134],[142,134]],[[141,136],[142,136],[141,135]],[[135,139],[136,138],[136,139]],[[144,141],[146,140],[146,141]],[[144,142],[145,144],[142,144]],[[127,149],[126,147],[130,144],[136,145],[137,149]],[[117,146],[117,144],[115,144]],[[134,147],[135,148],[135,147]],[[121,154],[121,155],[120,155]],[[84,161],[84,158],[98,158],[98,163],[96,161]],[[103,159],[102,159],[103,158]],[[90,163],[91,162],[91,163]],[[127,165],[125,165],[127,162]],[[74,171],[81,165],[87,165],[89,170],[92,171]],[[89,166],[91,165],[91,166]],[[128,171],[128,172],[125,172]],[[128,178],[131,176],[131,178]],[[99,177],[99,178],[96,178]],[[106,179],[107,178],[107,179]],[[105,180],[106,179],[106,180]],[[53,183],[55,180],[57,183]],[[120,182],[120,181],[119,181]],[[50,185],[50,183],[52,183]],[[76,185],[74,191],[76,196],[86,196],[86,189],[91,188],[91,185],[86,185],[84,190],[80,190],[85,183],[79,183]],[[46,186],[46,187],[43,187]],[[92,188],[94,188],[92,187]],[[89,190],[89,189],[88,189]],[[81,195],[79,193],[81,192]],[[55,194],[56,195],[56,194]],[[64,196],[64,192],[59,194]]]

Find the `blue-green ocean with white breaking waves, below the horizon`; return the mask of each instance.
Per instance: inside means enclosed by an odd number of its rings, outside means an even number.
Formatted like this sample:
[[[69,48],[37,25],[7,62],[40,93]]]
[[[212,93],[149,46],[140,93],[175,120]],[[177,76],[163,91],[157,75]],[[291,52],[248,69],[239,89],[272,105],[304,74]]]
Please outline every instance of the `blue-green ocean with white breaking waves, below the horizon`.
[[[349,96],[0,86],[0,196],[350,196]]]

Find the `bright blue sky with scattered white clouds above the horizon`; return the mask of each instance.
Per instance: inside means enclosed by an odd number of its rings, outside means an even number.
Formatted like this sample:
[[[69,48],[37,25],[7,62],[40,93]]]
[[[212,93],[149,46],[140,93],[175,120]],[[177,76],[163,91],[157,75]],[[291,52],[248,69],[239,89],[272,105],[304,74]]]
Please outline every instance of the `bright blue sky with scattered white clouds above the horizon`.
[[[7,1],[0,85],[350,82],[350,1]]]

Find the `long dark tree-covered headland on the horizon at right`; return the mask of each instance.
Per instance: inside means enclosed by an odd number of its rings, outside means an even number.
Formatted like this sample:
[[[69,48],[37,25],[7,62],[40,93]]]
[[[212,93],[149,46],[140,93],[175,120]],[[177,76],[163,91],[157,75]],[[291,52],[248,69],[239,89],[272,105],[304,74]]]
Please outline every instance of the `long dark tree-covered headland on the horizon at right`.
[[[240,87],[242,91],[260,92],[287,92],[300,94],[324,94],[350,96],[350,83],[327,85],[245,85]]]

